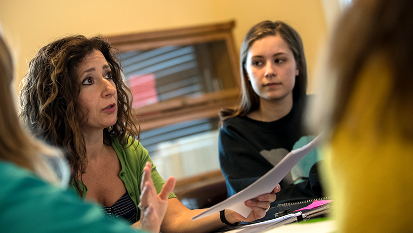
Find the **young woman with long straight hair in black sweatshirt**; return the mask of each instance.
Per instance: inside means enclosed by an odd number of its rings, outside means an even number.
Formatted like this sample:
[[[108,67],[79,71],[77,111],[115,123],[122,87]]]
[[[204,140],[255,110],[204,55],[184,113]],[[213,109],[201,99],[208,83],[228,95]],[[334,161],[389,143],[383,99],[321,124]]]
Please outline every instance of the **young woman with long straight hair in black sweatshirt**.
[[[219,160],[228,195],[243,190],[294,148],[311,139],[301,118],[308,99],[300,35],[282,21],[263,21],[244,38],[241,100],[220,111]],[[311,152],[280,183],[275,203],[321,197],[317,154]],[[304,182],[298,183],[300,179]]]

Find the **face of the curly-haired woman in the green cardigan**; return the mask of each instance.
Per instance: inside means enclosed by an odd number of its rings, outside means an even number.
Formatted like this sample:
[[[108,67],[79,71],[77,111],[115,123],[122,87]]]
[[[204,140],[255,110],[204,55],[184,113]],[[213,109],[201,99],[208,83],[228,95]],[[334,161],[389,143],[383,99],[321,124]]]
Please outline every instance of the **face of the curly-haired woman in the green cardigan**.
[[[87,112],[81,122],[83,132],[115,125],[118,95],[111,69],[102,52],[94,50],[86,55],[76,71],[82,85],[79,104]]]

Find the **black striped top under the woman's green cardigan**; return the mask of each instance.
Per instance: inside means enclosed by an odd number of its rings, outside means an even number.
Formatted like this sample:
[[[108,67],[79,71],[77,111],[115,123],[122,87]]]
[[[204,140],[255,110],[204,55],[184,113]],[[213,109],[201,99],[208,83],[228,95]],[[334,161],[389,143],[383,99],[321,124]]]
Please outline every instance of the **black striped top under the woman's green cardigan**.
[[[106,212],[106,216],[109,218],[122,217],[125,223],[133,224],[136,220],[136,207],[132,199],[130,199],[126,192],[119,200],[117,200],[112,206],[102,206]]]

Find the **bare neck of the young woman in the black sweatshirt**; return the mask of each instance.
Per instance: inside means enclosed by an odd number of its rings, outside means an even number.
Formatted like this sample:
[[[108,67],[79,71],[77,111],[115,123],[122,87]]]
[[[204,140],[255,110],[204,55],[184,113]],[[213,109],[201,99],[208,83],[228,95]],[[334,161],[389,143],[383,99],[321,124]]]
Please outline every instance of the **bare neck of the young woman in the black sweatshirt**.
[[[256,121],[273,122],[289,114],[292,109],[292,96],[281,100],[266,100],[260,98],[259,108],[247,116]]]

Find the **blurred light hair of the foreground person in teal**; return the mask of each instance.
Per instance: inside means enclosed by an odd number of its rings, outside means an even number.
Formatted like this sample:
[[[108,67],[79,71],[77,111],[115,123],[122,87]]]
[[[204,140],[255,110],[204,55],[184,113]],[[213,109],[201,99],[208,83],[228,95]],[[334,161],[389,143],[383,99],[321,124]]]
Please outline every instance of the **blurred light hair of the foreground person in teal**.
[[[28,135],[14,106],[13,60],[0,31],[0,160],[25,167],[56,185],[68,183],[69,170],[58,150]]]

